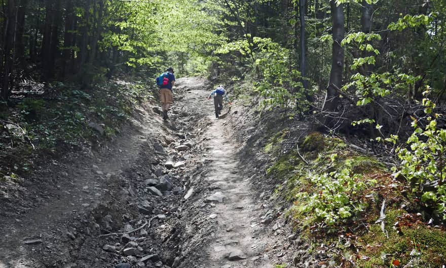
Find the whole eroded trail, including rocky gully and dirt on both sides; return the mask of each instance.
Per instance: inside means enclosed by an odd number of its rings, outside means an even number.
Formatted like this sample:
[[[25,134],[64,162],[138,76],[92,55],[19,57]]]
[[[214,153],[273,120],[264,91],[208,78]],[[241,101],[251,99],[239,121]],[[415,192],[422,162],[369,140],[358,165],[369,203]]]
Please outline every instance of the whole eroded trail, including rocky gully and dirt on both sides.
[[[207,84],[179,79],[168,123],[141,108],[100,150],[36,169],[0,214],[0,268],[274,267],[292,245],[311,266],[264,172],[242,161],[243,121],[234,108],[214,118]]]

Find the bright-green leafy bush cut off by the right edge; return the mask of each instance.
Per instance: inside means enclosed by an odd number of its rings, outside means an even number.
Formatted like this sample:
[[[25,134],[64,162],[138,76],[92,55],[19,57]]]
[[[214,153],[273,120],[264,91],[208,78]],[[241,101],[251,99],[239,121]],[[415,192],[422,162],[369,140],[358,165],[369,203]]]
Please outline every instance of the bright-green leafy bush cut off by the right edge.
[[[425,127],[414,120],[415,131],[407,140],[410,148],[398,148],[401,166],[397,175],[412,182],[413,190],[421,195],[422,202],[433,206],[446,220],[446,129],[437,127],[441,115],[432,115],[435,105],[428,98],[423,99],[423,105],[430,116],[426,118]]]

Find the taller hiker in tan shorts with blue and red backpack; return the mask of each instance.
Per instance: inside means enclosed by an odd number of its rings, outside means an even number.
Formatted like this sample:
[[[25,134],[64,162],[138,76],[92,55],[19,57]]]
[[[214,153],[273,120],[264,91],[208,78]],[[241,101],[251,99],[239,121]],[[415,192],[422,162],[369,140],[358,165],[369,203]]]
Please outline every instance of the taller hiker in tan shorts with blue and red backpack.
[[[175,84],[175,76],[173,73],[173,68],[169,67],[165,73],[157,77],[157,85],[160,88],[161,111],[163,112],[164,121],[169,119],[167,112],[169,111],[170,105],[173,103],[172,87]]]

